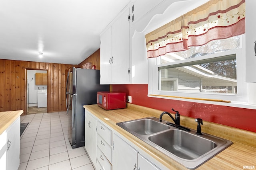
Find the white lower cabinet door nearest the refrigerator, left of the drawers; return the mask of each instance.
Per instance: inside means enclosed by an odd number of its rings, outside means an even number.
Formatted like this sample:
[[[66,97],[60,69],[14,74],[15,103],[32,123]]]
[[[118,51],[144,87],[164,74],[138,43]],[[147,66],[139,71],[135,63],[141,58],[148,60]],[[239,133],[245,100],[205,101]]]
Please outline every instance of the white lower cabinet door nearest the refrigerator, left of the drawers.
[[[97,149],[96,119],[85,111],[85,148],[90,156],[92,163],[96,165]]]

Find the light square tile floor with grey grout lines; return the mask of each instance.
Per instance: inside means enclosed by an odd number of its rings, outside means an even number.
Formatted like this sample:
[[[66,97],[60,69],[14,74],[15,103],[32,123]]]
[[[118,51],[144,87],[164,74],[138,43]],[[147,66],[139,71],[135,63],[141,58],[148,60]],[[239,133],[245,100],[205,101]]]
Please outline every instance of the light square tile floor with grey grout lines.
[[[94,170],[84,147],[72,149],[66,112],[20,117],[29,123],[20,138],[18,170]]]

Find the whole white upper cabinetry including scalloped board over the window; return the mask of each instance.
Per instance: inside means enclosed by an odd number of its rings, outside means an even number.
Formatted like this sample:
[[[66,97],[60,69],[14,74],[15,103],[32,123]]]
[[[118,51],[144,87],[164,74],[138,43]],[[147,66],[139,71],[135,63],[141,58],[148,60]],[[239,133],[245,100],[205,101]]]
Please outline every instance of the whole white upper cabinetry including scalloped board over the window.
[[[132,0],[100,36],[100,84],[148,84],[145,35],[204,3]]]

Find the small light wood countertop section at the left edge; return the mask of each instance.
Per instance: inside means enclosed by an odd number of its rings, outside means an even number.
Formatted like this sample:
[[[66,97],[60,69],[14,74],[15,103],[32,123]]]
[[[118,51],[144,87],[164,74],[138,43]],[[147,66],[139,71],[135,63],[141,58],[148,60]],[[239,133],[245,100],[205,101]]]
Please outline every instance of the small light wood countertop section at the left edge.
[[[0,135],[23,113],[23,110],[0,112]]]

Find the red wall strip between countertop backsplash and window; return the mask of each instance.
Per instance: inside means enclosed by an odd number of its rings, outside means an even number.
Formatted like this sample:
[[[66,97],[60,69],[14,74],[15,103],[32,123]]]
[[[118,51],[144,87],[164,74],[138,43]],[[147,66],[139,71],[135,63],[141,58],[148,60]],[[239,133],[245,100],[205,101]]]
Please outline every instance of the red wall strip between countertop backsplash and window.
[[[152,98],[147,96],[148,84],[112,85],[112,91],[126,92],[126,95],[132,96],[132,104],[172,113],[171,108],[174,108],[180,115],[256,132],[254,109]]]

